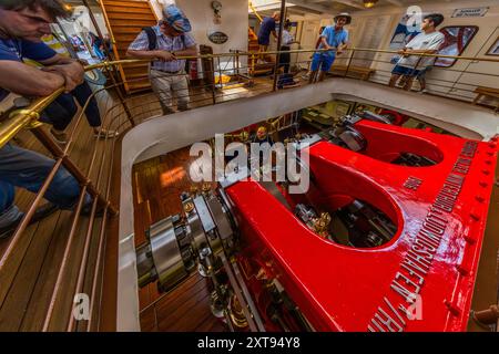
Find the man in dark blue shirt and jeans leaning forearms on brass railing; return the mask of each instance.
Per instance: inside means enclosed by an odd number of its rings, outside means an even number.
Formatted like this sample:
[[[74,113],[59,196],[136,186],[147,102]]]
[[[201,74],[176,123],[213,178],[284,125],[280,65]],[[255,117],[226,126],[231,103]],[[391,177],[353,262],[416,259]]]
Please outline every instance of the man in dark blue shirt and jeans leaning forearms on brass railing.
[[[57,17],[67,17],[57,0],[16,0],[0,2],[0,104],[11,93],[45,96],[61,86],[70,92],[83,81],[83,66],[78,62],[53,63],[39,70],[22,63],[33,43],[50,33]],[[10,143],[0,148],[0,239],[9,237],[21,222],[23,212],[14,205],[14,186],[32,192],[43,185],[55,162]],[[72,209],[80,195],[78,180],[63,167],[59,168],[44,194],[50,202],[39,207],[31,219],[38,221],[60,209]],[[85,210],[90,206],[90,197]]]

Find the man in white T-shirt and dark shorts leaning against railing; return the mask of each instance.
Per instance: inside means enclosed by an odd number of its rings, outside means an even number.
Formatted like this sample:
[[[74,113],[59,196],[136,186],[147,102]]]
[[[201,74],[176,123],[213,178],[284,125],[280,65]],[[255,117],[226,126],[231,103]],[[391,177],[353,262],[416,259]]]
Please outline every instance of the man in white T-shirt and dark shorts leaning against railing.
[[[419,73],[435,63],[435,58],[410,54],[435,54],[445,41],[445,35],[437,31],[437,27],[444,22],[444,15],[431,13],[425,17],[421,23],[422,33],[416,35],[406,46],[399,51],[403,56],[391,71],[390,87],[395,87],[400,76],[405,82],[404,90],[410,91],[414,79]]]

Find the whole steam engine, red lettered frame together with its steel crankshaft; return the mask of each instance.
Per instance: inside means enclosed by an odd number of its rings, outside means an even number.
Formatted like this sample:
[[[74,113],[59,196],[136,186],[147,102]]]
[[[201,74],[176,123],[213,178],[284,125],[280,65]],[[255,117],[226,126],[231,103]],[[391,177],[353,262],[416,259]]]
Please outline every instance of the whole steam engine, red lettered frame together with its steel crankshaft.
[[[304,194],[244,170],[184,194],[138,250],[140,281],[170,289],[197,266],[235,331],[466,330],[498,138],[376,121],[294,142]]]

